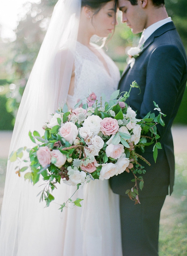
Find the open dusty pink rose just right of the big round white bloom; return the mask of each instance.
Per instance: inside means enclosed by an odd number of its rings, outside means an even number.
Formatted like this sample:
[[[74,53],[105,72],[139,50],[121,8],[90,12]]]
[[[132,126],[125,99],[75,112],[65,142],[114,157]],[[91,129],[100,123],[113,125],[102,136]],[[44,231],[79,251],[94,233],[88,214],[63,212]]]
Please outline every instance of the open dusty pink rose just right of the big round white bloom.
[[[101,125],[101,131],[104,135],[116,134],[119,129],[117,120],[111,117],[104,118],[101,121],[100,125]]]

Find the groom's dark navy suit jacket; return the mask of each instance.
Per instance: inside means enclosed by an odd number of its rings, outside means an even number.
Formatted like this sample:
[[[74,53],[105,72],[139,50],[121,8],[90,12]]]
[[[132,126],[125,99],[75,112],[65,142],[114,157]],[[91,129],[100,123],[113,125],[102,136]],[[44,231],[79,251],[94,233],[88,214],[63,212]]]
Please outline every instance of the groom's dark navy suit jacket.
[[[137,118],[143,118],[153,109],[154,104],[159,105],[165,127],[157,125],[157,133],[161,136],[158,140],[163,149],[158,150],[156,163],[153,159],[153,146],[146,147],[144,153],[151,166],[145,163],[146,173],[143,175],[144,188],[140,197],[159,196],[173,191],[175,159],[171,125],[179,108],[187,80],[187,60],[183,44],[173,22],[166,23],[158,28],[145,42],[140,56],[132,68],[127,66],[119,83],[120,92],[129,91],[130,84],[136,80],[139,89],[132,88],[128,104],[137,111]],[[156,113],[157,112],[157,113]],[[125,191],[132,188],[133,174],[121,173],[110,178],[111,188],[114,193],[125,195]]]

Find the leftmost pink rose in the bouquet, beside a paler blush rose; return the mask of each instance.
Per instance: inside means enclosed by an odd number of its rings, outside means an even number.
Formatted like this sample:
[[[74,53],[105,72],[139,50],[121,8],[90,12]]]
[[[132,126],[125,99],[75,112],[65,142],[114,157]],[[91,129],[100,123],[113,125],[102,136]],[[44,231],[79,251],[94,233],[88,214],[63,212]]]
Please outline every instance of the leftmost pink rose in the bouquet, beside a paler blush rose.
[[[51,152],[50,149],[45,147],[40,147],[36,152],[38,162],[41,164],[43,168],[45,168],[51,162]]]

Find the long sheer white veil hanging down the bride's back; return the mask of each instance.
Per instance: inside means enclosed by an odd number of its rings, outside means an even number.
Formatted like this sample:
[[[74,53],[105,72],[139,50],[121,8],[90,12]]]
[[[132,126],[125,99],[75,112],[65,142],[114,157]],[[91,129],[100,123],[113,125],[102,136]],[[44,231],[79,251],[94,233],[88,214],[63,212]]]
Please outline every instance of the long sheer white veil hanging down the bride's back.
[[[80,10],[81,0],[59,0],[55,5],[49,28],[22,97],[10,153],[22,146],[32,146],[28,136],[29,130],[37,130],[43,135],[42,126],[50,118],[49,114],[54,113],[59,104],[66,102]],[[33,256],[36,255],[35,250],[37,255],[46,255],[45,251],[47,255],[60,255],[58,248],[53,246],[53,234],[59,232],[60,213],[56,208],[53,212],[53,207],[44,209],[44,205],[39,203],[39,198],[36,198],[37,190],[37,187],[25,182],[23,177],[19,178],[15,174],[15,163],[8,161],[0,218],[1,256],[27,256],[30,255],[29,248],[32,248]],[[44,211],[48,214],[45,215]],[[52,223],[45,219],[50,214],[54,218]],[[51,230],[51,233],[46,232],[46,228]],[[55,244],[58,243],[60,241],[55,241]],[[45,244],[45,248],[42,248],[42,244]]]

